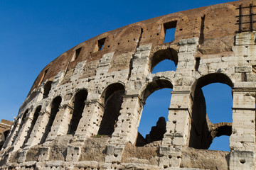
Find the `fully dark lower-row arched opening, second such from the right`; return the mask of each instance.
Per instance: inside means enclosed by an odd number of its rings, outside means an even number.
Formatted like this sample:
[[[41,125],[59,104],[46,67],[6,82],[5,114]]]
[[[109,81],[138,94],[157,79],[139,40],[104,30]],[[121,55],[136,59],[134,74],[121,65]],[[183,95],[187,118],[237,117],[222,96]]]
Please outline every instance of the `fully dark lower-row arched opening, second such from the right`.
[[[82,118],[82,112],[85,108],[85,100],[87,98],[87,91],[80,90],[77,94],[75,94],[74,110],[72,111],[72,118],[70,120],[70,125],[68,126],[68,134],[75,134],[75,131],[78,128],[78,123]]]

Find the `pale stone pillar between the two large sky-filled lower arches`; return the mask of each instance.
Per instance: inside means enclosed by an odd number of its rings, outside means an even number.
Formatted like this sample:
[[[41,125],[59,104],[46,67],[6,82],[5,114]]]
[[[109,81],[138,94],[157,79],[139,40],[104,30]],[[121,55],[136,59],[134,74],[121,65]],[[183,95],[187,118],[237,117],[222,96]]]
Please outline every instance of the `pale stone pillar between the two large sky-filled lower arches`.
[[[179,167],[181,148],[188,145],[189,127],[191,125],[191,92],[171,91],[166,133],[159,149],[164,155],[159,159],[161,166]]]

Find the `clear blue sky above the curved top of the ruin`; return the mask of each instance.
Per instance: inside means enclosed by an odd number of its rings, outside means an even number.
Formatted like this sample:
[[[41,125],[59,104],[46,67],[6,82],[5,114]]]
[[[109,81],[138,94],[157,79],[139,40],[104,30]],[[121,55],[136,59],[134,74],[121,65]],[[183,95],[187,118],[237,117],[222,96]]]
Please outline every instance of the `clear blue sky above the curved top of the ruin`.
[[[0,120],[13,120],[43,67],[80,42],[130,23],[224,2],[1,0]]]

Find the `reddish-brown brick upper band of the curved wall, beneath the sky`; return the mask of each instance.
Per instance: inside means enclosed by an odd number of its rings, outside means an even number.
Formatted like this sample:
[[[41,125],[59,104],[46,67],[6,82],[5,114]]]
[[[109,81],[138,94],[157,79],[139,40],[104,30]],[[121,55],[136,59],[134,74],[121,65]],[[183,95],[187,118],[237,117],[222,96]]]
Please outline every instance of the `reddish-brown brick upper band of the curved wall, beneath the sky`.
[[[102,33],[76,45],[50,62],[38,74],[28,96],[43,81],[53,79],[60,71],[68,72],[79,62],[86,61],[86,64],[90,64],[90,62],[100,60],[104,54],[109,52],[114,52],[114,56],[135,52],[139,45],[151,43],[152,49],[163,45],[165,25],[168,26],[168,24],[175,23],[175,26],[169,27],[176,28],[176,31],[174,41],[166,43],[171,43],[177,51],[179,40],[199,37],[200,45],[197,57],[214,57],[213,55],[223,52],[232,52],[235,31],[238,30],[236,24],[238,18],[235,16],[238,16],[239,11],[236,8],[240,4],[246,5],[250,2],[247,0],[233,1],[171,13]],[[127,69],[129,66],[123,64],[118,67],[116,69]],[[90,75],[87,76],[90,77]]]

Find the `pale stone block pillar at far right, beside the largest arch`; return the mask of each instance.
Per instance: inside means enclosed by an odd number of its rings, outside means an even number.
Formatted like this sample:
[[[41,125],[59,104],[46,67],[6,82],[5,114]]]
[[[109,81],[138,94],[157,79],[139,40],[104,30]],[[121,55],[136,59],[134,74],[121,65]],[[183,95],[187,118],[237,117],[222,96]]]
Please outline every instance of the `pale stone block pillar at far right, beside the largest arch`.
[[[255,169],[255,89],[233,89],[230,170]]]

